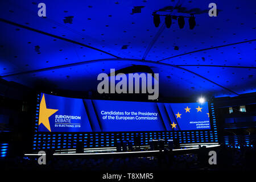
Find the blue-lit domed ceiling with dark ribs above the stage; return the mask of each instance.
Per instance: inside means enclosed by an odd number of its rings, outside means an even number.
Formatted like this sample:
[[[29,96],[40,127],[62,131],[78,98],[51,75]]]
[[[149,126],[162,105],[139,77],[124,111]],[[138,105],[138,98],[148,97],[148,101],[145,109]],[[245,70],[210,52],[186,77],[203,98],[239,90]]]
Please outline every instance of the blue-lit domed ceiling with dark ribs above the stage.
[[[46,4],[46,18],[38,3]],[[218,16],[208,16],[217,4]],[[143,6],[141,13],[133,13]],[[256,92],[256,1],[1,1],[0,76],[27,86],[96,90],[97,75],[131,65],[159,73],[163,96]],[[152,13],[195,14],[180,29],[158,28]],[[64,23],[73,16],[72,23]],[[26,27],[24,27],[26,26]],[[33,28],[33,30],[29,30]],[[79,63],[79,64],[78,64]]]

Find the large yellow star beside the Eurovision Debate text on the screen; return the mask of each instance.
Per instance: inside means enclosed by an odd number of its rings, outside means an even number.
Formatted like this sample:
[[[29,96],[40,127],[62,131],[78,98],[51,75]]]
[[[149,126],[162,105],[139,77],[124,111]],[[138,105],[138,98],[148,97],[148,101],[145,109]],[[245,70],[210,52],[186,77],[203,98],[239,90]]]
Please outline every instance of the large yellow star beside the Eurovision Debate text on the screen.
[[[58,109],[47,109],[46,108],[46,99],[44,98],[44,94],[42,100],[40,102],[40,109],[39,109],[39,124],[43,123],[43,125],[51,131],[51,126],[49,125],[49,117],[56,113]]]

